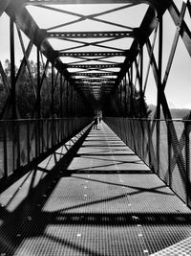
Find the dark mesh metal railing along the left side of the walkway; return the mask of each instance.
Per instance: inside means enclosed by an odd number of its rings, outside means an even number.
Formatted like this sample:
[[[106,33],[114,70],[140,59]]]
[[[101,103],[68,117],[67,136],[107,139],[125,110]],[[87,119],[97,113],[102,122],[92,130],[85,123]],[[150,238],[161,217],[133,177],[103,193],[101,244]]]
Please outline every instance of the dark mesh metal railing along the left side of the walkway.
[[[0,181],[29,169],[90,123],[85,117],[0,121]]]

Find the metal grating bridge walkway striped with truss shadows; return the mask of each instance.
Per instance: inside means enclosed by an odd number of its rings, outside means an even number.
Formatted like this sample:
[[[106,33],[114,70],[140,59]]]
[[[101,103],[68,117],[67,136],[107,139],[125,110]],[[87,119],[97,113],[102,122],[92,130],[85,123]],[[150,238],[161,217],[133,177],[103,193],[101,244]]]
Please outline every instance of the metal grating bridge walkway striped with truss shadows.
[[[0,195],[0,255],[191,255],[191,211],[102,122]]]

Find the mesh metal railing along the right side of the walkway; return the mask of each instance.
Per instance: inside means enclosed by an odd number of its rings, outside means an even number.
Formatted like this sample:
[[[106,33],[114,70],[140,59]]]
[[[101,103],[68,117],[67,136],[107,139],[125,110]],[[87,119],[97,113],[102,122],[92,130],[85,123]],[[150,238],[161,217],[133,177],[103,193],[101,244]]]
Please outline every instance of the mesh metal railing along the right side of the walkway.
[[[191,207],[191,121],[107,117],[105,122]]]

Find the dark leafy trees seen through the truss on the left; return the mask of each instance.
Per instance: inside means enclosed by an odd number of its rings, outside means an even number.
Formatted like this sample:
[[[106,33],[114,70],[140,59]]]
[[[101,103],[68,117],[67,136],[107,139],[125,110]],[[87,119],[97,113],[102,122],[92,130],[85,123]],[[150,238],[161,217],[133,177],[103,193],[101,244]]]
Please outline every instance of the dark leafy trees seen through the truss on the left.
[[[19,118],[29,118],[35,115],[36,99],[37,99],[37,64],[32,60],[29,61],[29,67],[25,67],[21,76],[16,81],[16,112]],[[41,76],[43,67],[40,66]],[[4,73],[6,76],[0,75],[0,115],[1,118],[11,118],[11,62],[6,59],[4,64]],[[18,68],[15,67],[17,76]],[[6,79],[6,81],[5,81]],[[59,112],[59,86],[54,85],[53,90],[53,112],[58,115]],[[52,103],[52,73],[48,68],[46,79],[43,81],[40,90],[40,111],[41,117],[50,116],[50,108]]]

